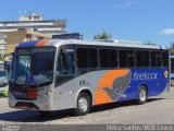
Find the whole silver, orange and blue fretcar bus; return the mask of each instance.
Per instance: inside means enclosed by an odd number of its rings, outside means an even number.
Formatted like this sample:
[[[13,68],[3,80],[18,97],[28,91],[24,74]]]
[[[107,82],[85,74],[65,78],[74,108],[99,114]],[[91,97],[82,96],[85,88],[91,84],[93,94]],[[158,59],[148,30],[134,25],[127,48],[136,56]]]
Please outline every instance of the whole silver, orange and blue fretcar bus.
[[[130,40],[44,39],[13,56],[9,106],[86,115],[100,104],[161,94],[169,87],[169,50]]]

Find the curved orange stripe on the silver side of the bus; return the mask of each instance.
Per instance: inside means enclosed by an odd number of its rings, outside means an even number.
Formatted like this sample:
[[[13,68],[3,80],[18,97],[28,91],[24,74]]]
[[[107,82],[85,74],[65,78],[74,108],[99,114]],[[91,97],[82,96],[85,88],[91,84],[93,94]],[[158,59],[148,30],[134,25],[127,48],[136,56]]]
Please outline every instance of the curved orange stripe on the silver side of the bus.
[[[101,78],[101,80],[98,84],[94,104],[99,105],[99,104],[112,103],[109,95],[102,88],[103,87],[112,88],[113,81],[116,78],[126,75],[128,72],[129,72],[129,70],[111,70],[108,73],[105,73]]]

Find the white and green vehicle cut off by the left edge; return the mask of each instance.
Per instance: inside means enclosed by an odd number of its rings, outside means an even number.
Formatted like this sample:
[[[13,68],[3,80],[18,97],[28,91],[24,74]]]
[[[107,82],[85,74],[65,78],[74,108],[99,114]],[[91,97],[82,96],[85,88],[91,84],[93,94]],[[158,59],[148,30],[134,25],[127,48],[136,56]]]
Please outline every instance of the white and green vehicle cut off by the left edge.
[[[4,70],[0,70],[0,96],[8,96],[9,81],[8,73]]]

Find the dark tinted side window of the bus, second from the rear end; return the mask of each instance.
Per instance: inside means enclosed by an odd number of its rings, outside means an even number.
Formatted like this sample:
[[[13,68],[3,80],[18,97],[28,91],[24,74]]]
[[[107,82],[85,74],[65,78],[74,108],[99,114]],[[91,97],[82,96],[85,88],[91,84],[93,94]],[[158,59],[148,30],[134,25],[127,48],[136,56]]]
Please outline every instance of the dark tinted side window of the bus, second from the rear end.
[[[151,67],[161,67],[161,51],[151,51]]]

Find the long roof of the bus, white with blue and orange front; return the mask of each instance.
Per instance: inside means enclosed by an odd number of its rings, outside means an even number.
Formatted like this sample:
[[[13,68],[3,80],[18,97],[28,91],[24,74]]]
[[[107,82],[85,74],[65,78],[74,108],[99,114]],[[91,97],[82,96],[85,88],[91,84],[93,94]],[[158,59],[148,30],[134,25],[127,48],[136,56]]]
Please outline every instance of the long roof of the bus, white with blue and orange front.
[[[161,47],[153,44],[144,44],[137,40],[82,40],[82,39],[42,39],[42,40],[32,40],[25,41],[17,46],[17,48],[29,48],[29,47],[42,47],[42,46],[54,46],[59,47],[62,45],[87,45],[87,46],[108,46],[108,47],[127,47],[127,48],[146,48],[146,49],[167,49],[166,47]]]

